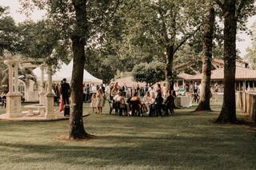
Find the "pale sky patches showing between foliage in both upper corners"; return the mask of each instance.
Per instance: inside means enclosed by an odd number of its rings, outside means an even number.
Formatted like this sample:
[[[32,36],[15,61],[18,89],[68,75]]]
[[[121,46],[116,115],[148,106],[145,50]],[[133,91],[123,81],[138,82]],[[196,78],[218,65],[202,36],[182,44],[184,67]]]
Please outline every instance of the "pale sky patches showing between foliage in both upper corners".
[[[26,15],[18,12],[18,10],[21,9],[18,0],[0,0],[0,6],[10,6],[9,12],[15,22],[24,22],[26,20]],[[44,14],[45,11],[34,10],[34,13],[31,14],[30,18],[34,21],[38,21]],[[247,22],[248,28],[250,28],[254,22],[256,22],[256,16],[249,18]],[[238,39],[242,41],[237,42],[237,48],[241,51],[241,56],[244,57],[246,55],[246,49],[251,45],[250,36],[245,33],[238,33]]]

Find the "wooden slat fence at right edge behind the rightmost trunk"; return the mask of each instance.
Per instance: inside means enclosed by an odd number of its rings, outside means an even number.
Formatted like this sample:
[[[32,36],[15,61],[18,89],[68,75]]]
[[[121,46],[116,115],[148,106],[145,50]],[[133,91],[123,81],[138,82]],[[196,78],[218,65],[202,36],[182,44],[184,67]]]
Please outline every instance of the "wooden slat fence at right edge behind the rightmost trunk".
[[[237,92],[236,105],[250,116],[251,121],[256,122],[256,93]]]

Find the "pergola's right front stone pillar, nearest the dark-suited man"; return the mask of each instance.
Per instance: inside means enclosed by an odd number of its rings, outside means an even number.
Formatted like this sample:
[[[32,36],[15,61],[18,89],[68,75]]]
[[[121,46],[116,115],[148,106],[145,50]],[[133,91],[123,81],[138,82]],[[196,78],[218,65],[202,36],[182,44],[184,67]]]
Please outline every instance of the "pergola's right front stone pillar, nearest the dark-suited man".
[[[52,93],[52,70],[51,66],[48,69],[48,88],[46,93],[46,119],[54,119],[56,117],[54,113],[54,93]]]

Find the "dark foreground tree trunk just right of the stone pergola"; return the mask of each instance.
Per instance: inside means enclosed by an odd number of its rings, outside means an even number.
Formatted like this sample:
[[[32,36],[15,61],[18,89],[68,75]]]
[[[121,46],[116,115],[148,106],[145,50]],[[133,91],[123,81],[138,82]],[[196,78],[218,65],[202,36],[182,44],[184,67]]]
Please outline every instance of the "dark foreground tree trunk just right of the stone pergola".
[[[72,0],[75,11],[75,32],[71,37],[72,50],[74,54],[74,64],[71,80],[71,101],[74,108],[70,114],[70,139],[83,139],[89,136],[84,128],[82,121],[82,104],[83,104],[83,70],[86,61],[86,0]]]

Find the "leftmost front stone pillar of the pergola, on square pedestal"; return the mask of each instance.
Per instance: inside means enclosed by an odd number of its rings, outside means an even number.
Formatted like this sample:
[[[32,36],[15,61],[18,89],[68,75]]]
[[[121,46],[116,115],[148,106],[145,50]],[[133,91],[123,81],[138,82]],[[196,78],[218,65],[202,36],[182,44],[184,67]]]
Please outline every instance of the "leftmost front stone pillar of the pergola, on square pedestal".
[[[15,64],[13,68],[13,62],[5,61],[9,68],[9,93],[6,95],[6,117],[14,118],[14,117],[22,117],[22,102],[20,93],[16,93],[18,91],[18,87],[15,88],[14,93],[14,71],[15,71],[15,84],[18,82],[18,64]],[[15,70],[14,70],[15,69]]]

